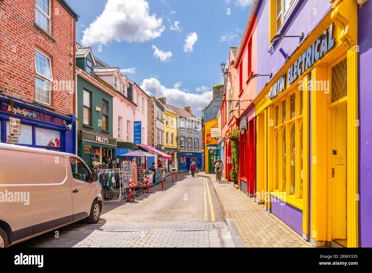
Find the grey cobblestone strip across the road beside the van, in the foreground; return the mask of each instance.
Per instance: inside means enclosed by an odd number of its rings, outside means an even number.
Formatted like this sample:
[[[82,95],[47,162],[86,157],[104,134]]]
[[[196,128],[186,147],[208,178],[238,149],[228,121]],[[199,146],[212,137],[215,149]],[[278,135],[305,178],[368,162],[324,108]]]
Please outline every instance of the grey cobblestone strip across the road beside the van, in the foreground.
[[[70,225],[15,247],[223,247],[221,222]]]

